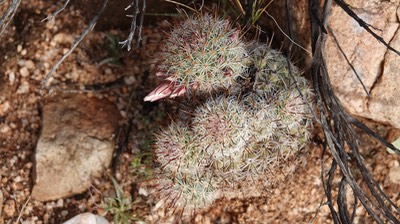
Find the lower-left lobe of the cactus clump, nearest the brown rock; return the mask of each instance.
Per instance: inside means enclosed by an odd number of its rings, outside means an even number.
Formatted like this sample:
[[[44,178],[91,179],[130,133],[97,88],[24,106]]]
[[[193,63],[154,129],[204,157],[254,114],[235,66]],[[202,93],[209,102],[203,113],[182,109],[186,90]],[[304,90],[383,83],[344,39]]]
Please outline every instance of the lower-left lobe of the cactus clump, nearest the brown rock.
[[[157,192],[172,207],[201,208],[217,198],[200,142],[192,130],[177,123],[158,134],[157,161],[164,172]]]

